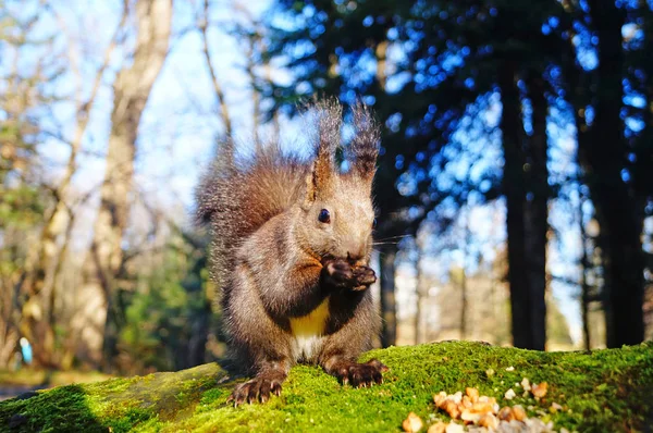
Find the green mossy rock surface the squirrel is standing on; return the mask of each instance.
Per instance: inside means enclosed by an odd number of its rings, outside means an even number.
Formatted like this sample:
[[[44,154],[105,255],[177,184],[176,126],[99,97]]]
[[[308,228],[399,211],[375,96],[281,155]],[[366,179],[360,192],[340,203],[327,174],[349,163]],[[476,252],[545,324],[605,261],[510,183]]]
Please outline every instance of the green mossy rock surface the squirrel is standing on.
[[[387,432],[401,430],[409,411],[427,424],[446,420],[433,407],[433,394],[467,386],[497,400],[513,388],[517,397],[509,406],[531,407],[530,415],[553,421],[556,430],[620,432],[653,425],[651,343],[591,352],[539,352],[449,342],[373,350],[362,360],[370,358],[391,368],[382,385],[355,389],[317,367],[298,366],[281,397],[238,408],[226,403],[234,382],[214,363],[61,386],[0,403],[0,431]],[[516,386],[522,378],[546,382],[546,396],[540,401],[525,397]],[[552,403],[563,410],[550,413]]]

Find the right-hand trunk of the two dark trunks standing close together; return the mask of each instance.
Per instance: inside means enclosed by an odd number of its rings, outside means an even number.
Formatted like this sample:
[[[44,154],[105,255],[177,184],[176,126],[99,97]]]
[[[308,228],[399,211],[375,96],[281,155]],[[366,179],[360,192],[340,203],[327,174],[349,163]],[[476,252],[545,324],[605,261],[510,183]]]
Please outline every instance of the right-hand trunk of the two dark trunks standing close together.
[[[549,231],[549,161],[546,149],[546,102],[544,81],[537,71],[527,77],[528,97],[532,104],[532,136],[529,137],[525,176],[528,187],[525,202],[526,277],[528,310],[531,323],[531,348],[544,350],[546,345],[546,232]],[[528,168],[528,169],[526,169]]]

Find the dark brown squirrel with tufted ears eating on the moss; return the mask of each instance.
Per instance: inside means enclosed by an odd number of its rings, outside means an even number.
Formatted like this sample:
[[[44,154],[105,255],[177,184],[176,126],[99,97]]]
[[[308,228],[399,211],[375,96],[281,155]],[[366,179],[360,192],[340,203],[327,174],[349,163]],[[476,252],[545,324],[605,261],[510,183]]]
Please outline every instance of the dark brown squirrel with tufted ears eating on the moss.
[[[379,128],[365,106],[353,108],[349,170],[342,172],[342,106],[319,102],[313,112],[312,161],[257,145],[238,163],[230,140],[197,191],[230,356],[254,375],[233,391],[235,406],[279,396],[296,362],[355,387],[381,383],[387,370],[375,359],[356,361],[381,323],[369,289]]]

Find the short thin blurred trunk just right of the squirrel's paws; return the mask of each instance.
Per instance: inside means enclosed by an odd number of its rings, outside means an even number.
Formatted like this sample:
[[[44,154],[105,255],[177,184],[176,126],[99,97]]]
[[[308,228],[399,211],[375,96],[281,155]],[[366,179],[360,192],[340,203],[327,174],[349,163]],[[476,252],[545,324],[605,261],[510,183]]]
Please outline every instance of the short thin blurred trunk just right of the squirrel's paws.
[[[380,249],[381,265],[381,345],[393,346],[397,339],[397,318],[395,306],[395,259],[396,245],[384,245]]]

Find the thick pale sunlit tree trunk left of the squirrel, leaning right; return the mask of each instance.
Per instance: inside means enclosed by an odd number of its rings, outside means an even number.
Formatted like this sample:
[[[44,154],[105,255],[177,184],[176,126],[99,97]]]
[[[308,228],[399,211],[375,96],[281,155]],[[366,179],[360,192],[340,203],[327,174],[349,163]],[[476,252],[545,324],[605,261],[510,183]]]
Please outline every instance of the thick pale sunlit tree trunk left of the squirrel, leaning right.
[[[135,9],[136,47],[132,65],[121,70],[113,84],[107,169],[76,317],[77,356],[96,366],[104,360],[104,367],[115,355],[118,339],[114,289],[130,215],[138,123],[168,54],[172,24],[172,0],[139,0]]]

